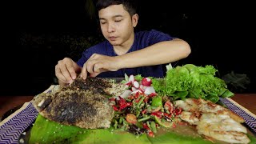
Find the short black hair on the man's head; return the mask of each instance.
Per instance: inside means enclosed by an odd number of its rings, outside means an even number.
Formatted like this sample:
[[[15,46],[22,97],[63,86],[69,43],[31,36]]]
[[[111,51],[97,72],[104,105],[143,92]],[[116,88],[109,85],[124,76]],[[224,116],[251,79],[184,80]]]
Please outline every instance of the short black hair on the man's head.
[[[96,4],[96,10],[105,9],[111,5],[123,5],[124,9],[128,11],[130,16],[136,14],[137,2],[136,0],[98,0]]]

